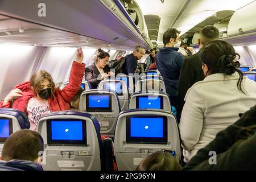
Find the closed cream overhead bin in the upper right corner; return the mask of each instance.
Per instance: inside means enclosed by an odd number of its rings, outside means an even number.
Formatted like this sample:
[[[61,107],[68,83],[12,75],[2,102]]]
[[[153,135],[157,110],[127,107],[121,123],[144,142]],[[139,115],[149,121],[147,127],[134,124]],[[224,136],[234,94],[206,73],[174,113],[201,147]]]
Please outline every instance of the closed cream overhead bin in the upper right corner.
[[[256,1],[237,10],[229,21],[228,35],[240,35],[256,31]]]

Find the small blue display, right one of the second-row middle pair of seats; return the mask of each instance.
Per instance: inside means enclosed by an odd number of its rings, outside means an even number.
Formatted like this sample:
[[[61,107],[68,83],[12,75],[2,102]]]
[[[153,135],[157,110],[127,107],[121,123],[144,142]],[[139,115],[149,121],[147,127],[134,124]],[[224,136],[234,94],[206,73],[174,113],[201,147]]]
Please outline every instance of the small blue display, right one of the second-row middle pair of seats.
[[[138,109],[161,109],[160,97],[139,97]]]

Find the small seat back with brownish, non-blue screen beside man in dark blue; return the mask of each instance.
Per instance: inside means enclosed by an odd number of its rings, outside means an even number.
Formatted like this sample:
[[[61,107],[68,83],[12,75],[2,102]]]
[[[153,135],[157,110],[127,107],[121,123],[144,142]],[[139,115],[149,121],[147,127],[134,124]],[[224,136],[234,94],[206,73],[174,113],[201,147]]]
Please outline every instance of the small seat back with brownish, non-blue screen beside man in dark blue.
[[[143,92],[143,93],[164,92],[164,93],[166,93],[166,85],[164,85],[163,80],[155,80],[155,79],[139,80],[136,84],[135,92]]]

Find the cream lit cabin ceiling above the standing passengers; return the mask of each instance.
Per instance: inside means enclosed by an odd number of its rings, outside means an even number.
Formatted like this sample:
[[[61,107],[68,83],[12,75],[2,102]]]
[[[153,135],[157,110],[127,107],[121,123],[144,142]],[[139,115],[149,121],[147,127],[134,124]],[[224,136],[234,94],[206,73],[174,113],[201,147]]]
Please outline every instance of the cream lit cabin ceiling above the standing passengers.
[[[165,0],[163,3],[160,0],[137,0],[144,15],[160,17],[157,38],[160,47],[163,46],[163,34],[167,28],[175,27],[181,31],[180,35],[192,36],[207,23],[214,24],[228,18],[229,14],[251,2],[254,0]],[[229,11],[223,13],[224,18],[212,17],[225,10]]]

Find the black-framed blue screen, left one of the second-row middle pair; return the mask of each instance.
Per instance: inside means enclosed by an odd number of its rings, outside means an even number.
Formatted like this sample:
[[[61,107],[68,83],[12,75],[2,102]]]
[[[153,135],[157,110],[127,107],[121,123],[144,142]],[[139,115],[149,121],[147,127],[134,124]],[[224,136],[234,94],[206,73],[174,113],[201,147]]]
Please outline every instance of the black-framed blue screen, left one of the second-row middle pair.
[[[92,112],[109,112],[112,111],[111,94],[87,94],[86,95],[86,111]]]

